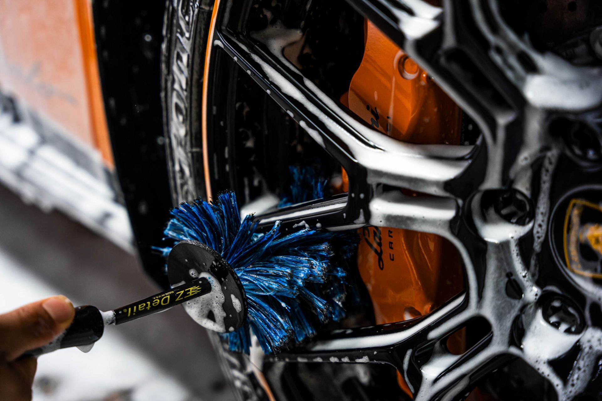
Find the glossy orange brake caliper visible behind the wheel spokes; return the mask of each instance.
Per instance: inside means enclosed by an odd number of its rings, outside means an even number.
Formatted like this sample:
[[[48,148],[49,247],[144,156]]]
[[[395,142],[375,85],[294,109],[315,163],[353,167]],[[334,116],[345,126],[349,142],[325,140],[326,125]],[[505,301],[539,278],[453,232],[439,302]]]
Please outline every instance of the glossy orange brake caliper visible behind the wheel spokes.
[[[364,58],[349,87],[349,108],[400,141],[459,144],[462,112],[456,103],[376,26],[366,22],[365,32]],[[343,177],[347,186],[344,171]],[[358,268],[377,324],[429,313],[462,290],[458,251],[443,237],[392,227],[364,227],[360,232]],[[448,346],[461,352],[463,335],[453,337]],[[411,395],[401,375],[398,380]]]

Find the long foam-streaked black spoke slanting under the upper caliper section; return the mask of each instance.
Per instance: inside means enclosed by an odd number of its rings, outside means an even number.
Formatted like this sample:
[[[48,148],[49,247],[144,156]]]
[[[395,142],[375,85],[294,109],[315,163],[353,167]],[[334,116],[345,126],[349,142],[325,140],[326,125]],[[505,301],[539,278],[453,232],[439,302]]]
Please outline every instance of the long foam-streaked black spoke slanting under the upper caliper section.
[[[446,183],[470,164],[472,147],[406,144],[373,130],[288,66],[283,57],[267,54],[250,40],[220,33],[216,43],[348,172],[364,170],[370,185],[446,195]]]

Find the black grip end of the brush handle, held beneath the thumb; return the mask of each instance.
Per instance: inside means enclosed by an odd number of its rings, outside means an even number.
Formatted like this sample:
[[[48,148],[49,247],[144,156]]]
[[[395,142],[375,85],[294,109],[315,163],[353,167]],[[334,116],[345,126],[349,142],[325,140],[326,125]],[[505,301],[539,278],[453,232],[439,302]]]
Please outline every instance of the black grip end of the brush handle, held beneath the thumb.
[[[62,334],[52,343],[26,351],[19,359],[37,357],[61,348],[93,344],[102,337],[104,330],[105,322],[98,308],[91,305],[76,307],[73,322]]]

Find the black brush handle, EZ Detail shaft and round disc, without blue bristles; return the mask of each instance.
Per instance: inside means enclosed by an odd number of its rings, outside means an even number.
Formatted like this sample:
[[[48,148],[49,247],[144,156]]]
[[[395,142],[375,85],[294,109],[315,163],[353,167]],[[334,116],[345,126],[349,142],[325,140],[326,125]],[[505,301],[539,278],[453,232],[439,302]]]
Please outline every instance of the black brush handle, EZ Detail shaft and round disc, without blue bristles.
[[[63,333],[51,343],[25,352],[20,358],[37,357],[67,347],[78,347],[87,352],[102,337],[105,326],[139,319],[184,302],[197,302],[205,316],[210,313],[223,316],[219,322],[203,322],[210,329],[225,332],[229,328],[234,331],[243,325],[247,315],[243,286],[216,251],[200,242],[182,241],[173,247],[167,266],[170,271],[185,271],[188,280],[108,312],[92,305],[76,307],[73,322]]]

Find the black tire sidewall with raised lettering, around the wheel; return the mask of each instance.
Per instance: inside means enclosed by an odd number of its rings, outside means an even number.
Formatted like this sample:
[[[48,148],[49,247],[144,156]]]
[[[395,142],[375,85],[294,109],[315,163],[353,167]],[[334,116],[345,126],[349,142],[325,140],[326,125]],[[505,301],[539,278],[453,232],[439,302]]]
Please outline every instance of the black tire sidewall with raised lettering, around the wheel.
[[[203,69],[213,0],[175,0],[166,7],[161,48],[167,168],[173,205],[205,198],[202,162]],[[199,328],[200,329],[200,328]],[[222,370],[239,400],[267,399],[248,358],[228,352],[219,336],[208,332]]]

